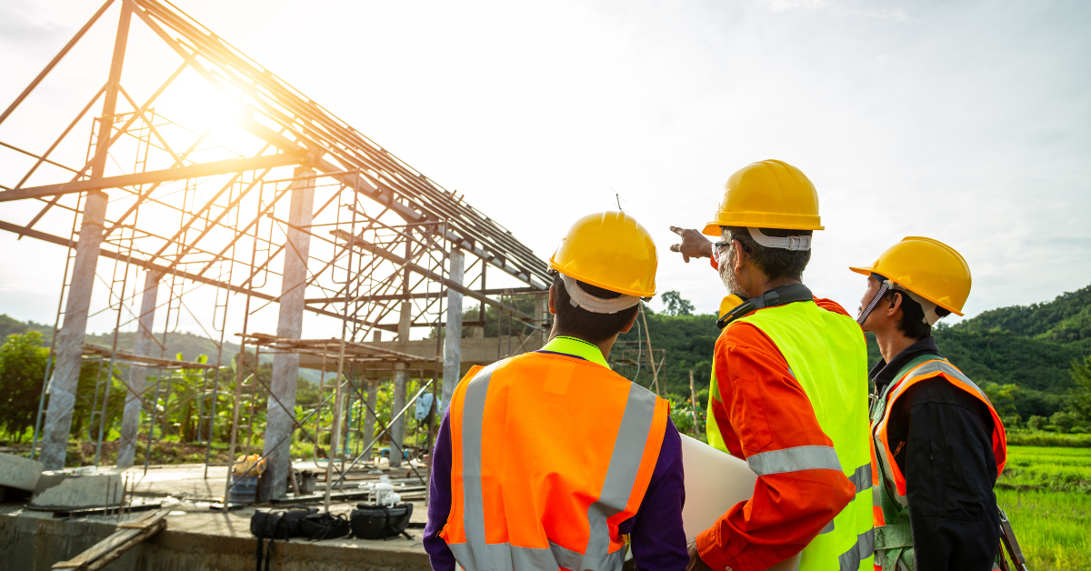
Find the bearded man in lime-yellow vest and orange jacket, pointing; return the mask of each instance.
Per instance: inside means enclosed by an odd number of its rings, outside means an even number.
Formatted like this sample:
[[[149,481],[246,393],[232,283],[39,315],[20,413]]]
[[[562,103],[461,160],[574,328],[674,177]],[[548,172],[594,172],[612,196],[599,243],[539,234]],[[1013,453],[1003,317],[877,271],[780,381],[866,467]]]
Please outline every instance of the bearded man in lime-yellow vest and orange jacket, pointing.
[[[720,319],[708,441],[745,459],[750,500],[690,544],[691,569],[872,567],[867,352],[852,317],[802,283],[818,194],[800,169],[763,160],[728,179],[704,234],[671,250],[709,257],[740,305]],[[744,301],[745,300],[745,301]]]

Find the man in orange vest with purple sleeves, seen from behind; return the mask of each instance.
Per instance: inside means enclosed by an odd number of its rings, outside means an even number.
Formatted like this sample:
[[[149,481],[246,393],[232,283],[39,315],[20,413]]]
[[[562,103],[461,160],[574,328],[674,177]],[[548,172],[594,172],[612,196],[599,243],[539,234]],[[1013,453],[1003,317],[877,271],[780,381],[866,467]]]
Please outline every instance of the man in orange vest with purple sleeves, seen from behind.
[[[580,218],[550,259],[540,350],[473,367],[432,460],[432,569],[685,569],[682,442],[669,404],[607,357],[656,292],[656,245],[624,212]]]

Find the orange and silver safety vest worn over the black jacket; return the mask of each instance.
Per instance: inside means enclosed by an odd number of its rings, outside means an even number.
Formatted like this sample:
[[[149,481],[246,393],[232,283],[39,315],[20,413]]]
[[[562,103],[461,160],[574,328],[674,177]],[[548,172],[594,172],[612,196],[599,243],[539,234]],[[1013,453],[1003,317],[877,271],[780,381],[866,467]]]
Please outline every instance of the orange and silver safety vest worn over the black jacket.
[[[875,569],[894,568],[895,562],[883,563],[892,556],[901,558],[901,568],[912,569],[912,533],[909,530],[909,499],[906,497],[906,476],[894,460],[887,439],[890,411],[910,386],[928,379],[943,377],[951,385],[984,403],[993,415],[993,455],[999,477],[1007,463],[1008,444],[1004,424],[993,408],[993,403],[969,377],[946,359],[927,356],[911,361],[883,391],[872,409],[872,519],[875,528]],[[878,462],[876,462],[878,460]],[[908,551],[909,554],[903,555]],[[907,557],[908,555],[908,557]]]

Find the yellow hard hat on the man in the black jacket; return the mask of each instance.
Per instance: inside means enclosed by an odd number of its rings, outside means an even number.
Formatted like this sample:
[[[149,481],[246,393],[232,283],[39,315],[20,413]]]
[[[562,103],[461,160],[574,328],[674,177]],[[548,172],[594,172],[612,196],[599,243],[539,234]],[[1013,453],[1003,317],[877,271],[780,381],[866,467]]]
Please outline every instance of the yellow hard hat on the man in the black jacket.
[[[902,238],[872,265],[849,270],[879,274],[958,316],[970,297],[970,265],[954,248],[932,238]]]

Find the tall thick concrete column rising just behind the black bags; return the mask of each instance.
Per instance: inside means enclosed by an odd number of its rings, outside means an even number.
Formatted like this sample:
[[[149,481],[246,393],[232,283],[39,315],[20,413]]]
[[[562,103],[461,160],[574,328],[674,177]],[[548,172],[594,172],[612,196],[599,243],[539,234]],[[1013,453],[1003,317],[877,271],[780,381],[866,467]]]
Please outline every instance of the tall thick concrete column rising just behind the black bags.
[[[295,177],[313,175],[308,167],[296,167]],[[276,334],[293,340],[303,332],[303,293],[307,289],[307,260],[311,251],[311,235],[297,230],[311,225],[314,216],[314,179],[292,182],[285,248],[284,281],[280,284],[280,316]],[[295,426],[296,383],[299,381],[299,355],[278,353],[273,356],[273,379],[269,383],[267,421],[265,425],[265,474],[257,489],[259,501],[280,498],[288,491],[291,469],[291,431]],[[279,400],[279,402],[277,402]]]

